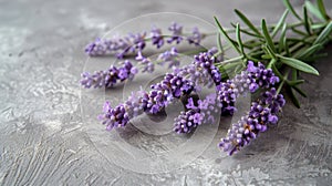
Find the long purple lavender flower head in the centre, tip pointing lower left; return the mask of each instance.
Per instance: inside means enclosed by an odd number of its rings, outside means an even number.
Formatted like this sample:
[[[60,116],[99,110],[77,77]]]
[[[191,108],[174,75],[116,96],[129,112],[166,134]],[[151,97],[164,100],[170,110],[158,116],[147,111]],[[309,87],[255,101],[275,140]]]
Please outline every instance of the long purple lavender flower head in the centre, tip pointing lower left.
[[[152,89],[148,93],[138,91],[136,94],[132,94],[125,103],[114,108],[111,107],[110,102],[106,102],[103,114],[98,118],[107,130],[112,130],[114,126],[125,126],[131,118],[143,112],[156,114],[174,99],[190,94],[194,85],[181,76],[168,73],[162,82],[152,85]]]

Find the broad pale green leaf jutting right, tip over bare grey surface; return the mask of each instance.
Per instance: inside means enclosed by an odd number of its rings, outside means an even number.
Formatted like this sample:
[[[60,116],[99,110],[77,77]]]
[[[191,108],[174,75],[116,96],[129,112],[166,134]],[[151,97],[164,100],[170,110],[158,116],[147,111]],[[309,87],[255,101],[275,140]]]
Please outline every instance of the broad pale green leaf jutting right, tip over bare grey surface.
[[[292,58],[287,58],[287,56],[282,56],[282,55],[279,55],[277,54],[277,56],[280,59],[280,61],[293,69],[297,69],[299,71],[302,71],[302,72],[307,72],[307,73],[311,73],[311,74],[314,74],[314,75],[319,75],[320,73],[314,69],[312,68],[311,65],[300,61],[300,60],[297,60],[297,59],[292,59]]]

